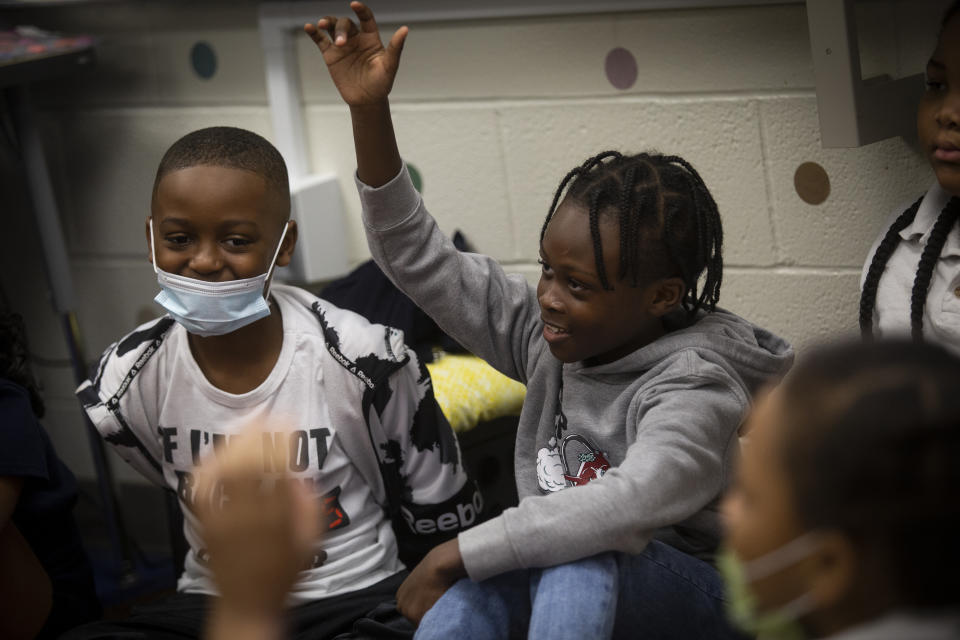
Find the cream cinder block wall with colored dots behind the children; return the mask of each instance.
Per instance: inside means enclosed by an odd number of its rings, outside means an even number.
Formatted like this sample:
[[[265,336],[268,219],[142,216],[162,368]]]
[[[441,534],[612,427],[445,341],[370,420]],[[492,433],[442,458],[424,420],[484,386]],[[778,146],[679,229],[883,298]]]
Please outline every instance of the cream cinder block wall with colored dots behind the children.
[[[944,4],[861,7],[865,75],[922,70]],[[95,68],[34,90],[91,359],[158,313],[144,221],[166,147],[215,124],[272,135],[255,5],[158,5],[3,16],[101,38]],[[216,54],[212,78],[191,66],[197,42]],[[614,87],[605,73],[615,47],[637,63],[638,79],[628,89]],[[368,252],[348,114],[306,37],[298,58],[313,170],[340,178],[345,242],[359,263]],[[605,149],[683,155],[701,171],[723,215],[721,304],[802,349],[855,328],[870,243],[893,209],[932,180],[902,139],[822,149],[813,85],[806,15],[794,3],[415,24],[392,104],[401,150],[422,175],[441,226],[463,230],[479,250],[531,282],[539,228],[567,170]],[[68,464],[89,477],[86,435],[23,178],[13,154],[0,161],[10,225],[0,257],[3,287],[27,317],[43,358],[45,423]],[[794,172],[804,162],[829,175],[831,193],[819,206],[795,191]],[[122,480],[136,477],[126,465],[117,470]]]

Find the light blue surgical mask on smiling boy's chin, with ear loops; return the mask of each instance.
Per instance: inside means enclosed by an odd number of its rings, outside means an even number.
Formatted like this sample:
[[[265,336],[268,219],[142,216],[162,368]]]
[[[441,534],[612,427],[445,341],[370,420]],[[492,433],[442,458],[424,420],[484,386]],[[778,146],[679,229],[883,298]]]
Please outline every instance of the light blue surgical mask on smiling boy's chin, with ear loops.
[[[174,320],[198,336],[222,336],[270,315],[270,275],[290,224],[283,227],[280,242],[266,273],[243,280],[207,282],[178,276],[157,267],[157,249],[150,221],[150,251],[160,293],[154,301]]]

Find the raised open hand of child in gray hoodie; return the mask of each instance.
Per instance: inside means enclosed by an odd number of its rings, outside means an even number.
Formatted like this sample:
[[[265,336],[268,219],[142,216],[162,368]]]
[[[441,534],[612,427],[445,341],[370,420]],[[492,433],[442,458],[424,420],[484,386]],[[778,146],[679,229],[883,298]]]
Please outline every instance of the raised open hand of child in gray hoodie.
[[[408,29],[397,29],[384,49],[373,12],[362,2],[351,2],[350,8],[357,14],[359,28],[350,18],[327,16],[315,25],[304,25],[303,30],[317,44],[348,105],[378,104],[393,87]]]

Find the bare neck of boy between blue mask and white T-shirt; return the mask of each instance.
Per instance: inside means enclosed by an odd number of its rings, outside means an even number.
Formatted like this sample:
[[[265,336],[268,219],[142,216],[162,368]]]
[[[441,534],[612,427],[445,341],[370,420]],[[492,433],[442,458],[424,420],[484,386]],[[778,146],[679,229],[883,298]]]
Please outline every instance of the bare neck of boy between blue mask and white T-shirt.
[[[270,315],[222,336],[188,333],[190,352],[200,371],[227,393],[253,391],[267,379],[283,347],[280,306],[270,303]]]

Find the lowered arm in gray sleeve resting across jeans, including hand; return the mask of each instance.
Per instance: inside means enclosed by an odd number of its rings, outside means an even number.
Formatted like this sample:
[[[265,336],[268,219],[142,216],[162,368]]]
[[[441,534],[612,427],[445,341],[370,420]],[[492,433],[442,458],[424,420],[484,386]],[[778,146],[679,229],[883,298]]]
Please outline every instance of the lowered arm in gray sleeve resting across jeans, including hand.
[[[719,367],[691,376],[689,359],[681,360],[637,396],[636,440],[618,466],[583,486],[527,496],[436,547],[397,592],[401,613],[419,620],[466,574],[480,581],[606,551],[640,553],[657,530],[692,517],[714,528],[704,507],[726,486],[749,399]]]

